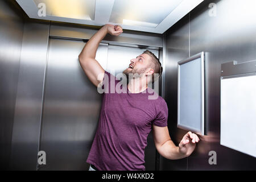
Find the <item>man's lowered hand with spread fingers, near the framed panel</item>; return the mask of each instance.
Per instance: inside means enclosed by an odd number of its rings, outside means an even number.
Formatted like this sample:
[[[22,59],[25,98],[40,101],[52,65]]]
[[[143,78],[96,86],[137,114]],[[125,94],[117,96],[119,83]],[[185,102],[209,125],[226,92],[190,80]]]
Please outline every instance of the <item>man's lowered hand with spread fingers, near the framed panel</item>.
[[[189,131],[180,141],[179,151],[181,152],[181,154],[185,154],[186,156],[191,155],[192,152],[195,150],[196,143],[198,143],[199,140],[200,139],[199,137],[197,137],[196,134]]]

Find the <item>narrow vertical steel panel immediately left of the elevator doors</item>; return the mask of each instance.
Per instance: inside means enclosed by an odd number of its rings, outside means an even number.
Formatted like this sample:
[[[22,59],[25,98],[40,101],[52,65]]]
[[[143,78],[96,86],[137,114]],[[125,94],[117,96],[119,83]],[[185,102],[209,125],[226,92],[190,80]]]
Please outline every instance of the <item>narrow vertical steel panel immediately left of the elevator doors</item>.
[[[49,23],[26,22],[20,55],[11,169],[36,170]]]

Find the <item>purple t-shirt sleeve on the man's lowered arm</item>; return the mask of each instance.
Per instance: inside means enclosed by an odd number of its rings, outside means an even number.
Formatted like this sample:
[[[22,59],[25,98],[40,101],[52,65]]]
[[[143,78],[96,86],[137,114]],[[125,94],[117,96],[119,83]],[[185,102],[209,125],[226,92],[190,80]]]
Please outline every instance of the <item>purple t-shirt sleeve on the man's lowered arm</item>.
[[[166,101],[161,99],[156,107],[156,118],[152,124],[159,127],[166,127],[168,121],[168,107]]]

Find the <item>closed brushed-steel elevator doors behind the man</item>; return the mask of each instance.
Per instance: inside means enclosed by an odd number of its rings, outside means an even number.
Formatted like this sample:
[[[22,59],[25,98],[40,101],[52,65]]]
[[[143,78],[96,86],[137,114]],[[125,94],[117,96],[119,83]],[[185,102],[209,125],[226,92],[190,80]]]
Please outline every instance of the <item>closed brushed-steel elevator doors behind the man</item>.
[[[46,164],[39,165],[39,170],[89,168],[86,159],[96,133],[102,95],[80,67],[78,55],[84,45],[81,41],[50,39],[39,148],[46,152]],[[144,50],[100,44],[96,60],[106,71],[120,73]],[[154,170],[152,134],[145,154],[146,170]]]

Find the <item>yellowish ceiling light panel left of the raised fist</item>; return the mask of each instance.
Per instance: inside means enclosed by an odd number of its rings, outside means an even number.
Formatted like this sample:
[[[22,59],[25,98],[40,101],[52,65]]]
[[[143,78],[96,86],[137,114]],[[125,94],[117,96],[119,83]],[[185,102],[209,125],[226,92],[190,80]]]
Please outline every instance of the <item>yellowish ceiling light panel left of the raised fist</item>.
[[[47,16],[94,20],[96,0],[34,0],[46,5]]]

